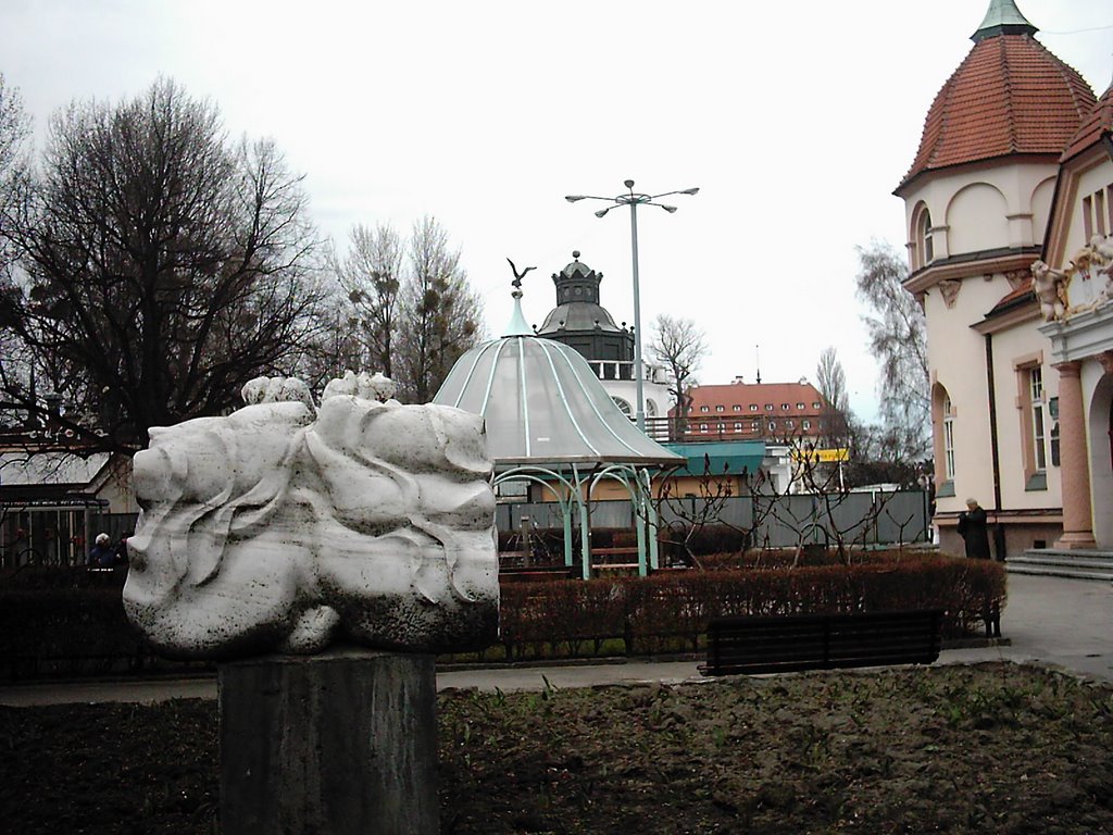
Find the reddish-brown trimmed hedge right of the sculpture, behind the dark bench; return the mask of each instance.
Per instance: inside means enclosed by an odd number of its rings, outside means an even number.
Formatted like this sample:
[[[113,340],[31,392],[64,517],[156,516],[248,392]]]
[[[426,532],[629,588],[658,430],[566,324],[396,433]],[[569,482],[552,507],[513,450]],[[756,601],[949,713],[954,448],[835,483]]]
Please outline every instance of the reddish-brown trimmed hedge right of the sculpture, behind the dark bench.
[[[621,638],[628,655],[698,649],[711,618],[942,609],[944,636],[972,633],[999,615],[999,562],[938,556],[869,556],[849,567],[666,571],[648,578],[515,583],[502,589],[506,657],[580,655]],[[562,646],[563,645],[563,646]]]

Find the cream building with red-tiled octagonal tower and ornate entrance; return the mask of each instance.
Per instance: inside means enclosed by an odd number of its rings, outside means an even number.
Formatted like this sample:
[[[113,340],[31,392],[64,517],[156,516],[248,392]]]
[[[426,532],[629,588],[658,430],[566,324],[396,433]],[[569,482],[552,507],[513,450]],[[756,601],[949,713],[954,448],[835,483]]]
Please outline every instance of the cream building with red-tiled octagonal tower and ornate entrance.
[[[1113,549],[1113,91],[991,0],[895,194],[927,317],[942,544]]]

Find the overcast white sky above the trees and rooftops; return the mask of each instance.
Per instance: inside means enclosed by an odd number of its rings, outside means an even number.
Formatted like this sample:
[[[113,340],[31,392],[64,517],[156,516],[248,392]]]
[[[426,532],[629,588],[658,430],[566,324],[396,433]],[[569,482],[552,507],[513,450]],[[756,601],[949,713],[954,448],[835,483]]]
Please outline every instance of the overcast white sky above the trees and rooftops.
[[[564,195],[699,186],[674,215],[639,212],[647,337],[662,312],[698,322],[705,383],[752,382],[757,345],[765,382],[814,380],[834,345],[870,418],[855,245],[903,248],[893,188],[988,4],[3,0],[0,72],[40,129],[71,99],[174,78],[230,134],[275,138],[342,249],[353,224],[433,215],[494,336],[506,256],[539,267],[531,323],[573,249],[604,274],[615,321],[633,321],[629,214],[597,219]],[[1100,95],[1113,4],[1017,4]]]

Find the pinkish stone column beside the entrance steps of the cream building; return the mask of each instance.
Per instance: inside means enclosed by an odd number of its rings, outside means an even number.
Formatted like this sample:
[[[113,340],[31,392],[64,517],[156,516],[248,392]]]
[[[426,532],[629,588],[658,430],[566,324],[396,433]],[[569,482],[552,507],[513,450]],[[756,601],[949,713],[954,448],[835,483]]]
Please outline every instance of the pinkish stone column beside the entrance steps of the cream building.
[[[1082,402],[1081,362],[1060,363],[1058,451],[1063,487],[1063,536],[1055,548],[1096,548],[1090,505],[1090,453]]]

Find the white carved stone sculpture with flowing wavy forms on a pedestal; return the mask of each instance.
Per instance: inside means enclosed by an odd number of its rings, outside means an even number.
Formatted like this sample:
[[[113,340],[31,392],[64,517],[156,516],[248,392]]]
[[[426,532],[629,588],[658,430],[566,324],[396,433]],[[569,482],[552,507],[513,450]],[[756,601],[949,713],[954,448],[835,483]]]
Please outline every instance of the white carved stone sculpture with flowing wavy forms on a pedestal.
[[[315,412],[299,381],[259,379],[230,415],[151,430],[134,462],[142,513],[124,605],[162,651],[444,651],[495,638],[482,418],[391,401],[382,375],[349,372],[326,394]]]

